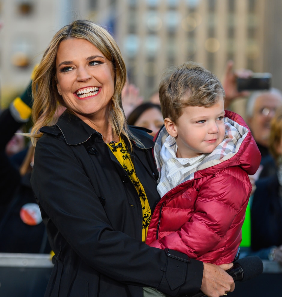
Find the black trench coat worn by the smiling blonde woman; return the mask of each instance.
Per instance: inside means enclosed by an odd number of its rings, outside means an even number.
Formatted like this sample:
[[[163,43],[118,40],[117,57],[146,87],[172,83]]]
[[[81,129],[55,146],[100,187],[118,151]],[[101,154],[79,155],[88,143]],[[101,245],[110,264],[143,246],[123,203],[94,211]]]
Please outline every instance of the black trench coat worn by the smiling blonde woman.
[[[41,131],[31,183],[55,252],[45,296],[142,297],[142,286],[197,292],[202,262],[141,241],[140,198],[102,135],[67,112]],[[131,131],[146,147],[134,144],[131,158],[153,211],[160,197],[152,138]]]

